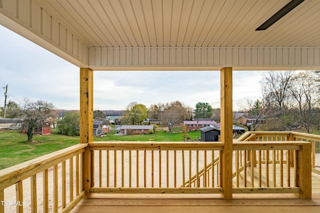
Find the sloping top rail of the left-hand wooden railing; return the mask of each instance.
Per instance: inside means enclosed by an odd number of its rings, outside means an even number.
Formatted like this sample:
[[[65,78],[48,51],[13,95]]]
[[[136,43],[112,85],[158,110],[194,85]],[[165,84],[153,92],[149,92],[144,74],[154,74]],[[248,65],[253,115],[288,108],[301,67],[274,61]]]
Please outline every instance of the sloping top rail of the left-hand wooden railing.
[[[0,189],[43,171],[85,150],[87,143],[79,143],[58,151],[0,170]]]

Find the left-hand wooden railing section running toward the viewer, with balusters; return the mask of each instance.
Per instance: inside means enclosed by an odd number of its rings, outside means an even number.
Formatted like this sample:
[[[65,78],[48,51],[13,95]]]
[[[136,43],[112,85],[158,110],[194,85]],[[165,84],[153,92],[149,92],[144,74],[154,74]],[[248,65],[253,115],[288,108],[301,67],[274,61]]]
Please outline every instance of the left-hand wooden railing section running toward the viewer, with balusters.
[[[68,212],[84,195],[86,146],[73,145],[1,170],[0,212]]]

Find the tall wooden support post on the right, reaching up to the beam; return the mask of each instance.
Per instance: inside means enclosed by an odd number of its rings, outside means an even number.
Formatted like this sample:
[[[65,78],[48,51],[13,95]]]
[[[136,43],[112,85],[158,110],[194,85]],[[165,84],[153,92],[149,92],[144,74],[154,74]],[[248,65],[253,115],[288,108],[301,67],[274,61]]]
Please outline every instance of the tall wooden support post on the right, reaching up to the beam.
[[[220,71],[221,84],[221,131],[224,142],[222,150],[222,188],[224,199],[232,199],[232,67]]]

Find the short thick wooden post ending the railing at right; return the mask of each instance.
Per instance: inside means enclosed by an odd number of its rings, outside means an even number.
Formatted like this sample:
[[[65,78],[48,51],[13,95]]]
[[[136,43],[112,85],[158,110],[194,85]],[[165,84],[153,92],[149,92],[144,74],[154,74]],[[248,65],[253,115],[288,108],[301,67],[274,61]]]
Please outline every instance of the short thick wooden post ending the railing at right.
[[[311,199],[311,143],[300,146],[296,167],[300,188],[299,196],[303,199]]]

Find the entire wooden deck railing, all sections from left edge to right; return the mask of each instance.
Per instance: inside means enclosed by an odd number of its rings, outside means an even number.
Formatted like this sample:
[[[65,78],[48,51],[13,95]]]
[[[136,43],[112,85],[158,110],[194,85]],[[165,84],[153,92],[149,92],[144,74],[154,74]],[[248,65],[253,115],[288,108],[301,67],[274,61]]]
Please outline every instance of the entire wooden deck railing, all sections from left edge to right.
[[[311,164],[316,167],[319,138],[295,132],[245,133],[233,143],[232,193],[311,198]],[[223,193],[223,148],[223,142],[73,145],[1,170],[0,200],[11,203],[1,202],[0,212],[67,212],[88,193]]]

